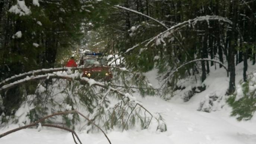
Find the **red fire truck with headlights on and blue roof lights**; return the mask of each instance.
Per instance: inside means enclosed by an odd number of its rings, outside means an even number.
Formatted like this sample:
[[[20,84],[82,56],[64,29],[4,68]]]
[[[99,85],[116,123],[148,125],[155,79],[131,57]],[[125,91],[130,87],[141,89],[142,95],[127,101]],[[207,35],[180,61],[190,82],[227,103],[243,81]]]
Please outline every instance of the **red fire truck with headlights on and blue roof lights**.
[[[113,77],[108,61],[101,53],[85,53],[80,59],[80,65],[84,65],[82,77],[102,79],[110,81]]]

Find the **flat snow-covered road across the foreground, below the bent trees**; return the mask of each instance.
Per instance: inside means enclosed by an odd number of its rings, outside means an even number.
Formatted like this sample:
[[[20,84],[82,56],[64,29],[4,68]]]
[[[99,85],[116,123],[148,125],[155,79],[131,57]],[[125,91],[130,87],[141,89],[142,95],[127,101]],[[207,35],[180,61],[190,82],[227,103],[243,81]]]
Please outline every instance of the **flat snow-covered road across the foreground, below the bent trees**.
[[[113,144],[255,144],[256,121],[237,122],[225,111],[198,112],[184,104],[166,102],[157,97],[142,100],[151,112],[160,112],[167,123],[166,132],[157,132],[157,123],[149,129],[112,131],[108,133]],[[12,125],[10,128],[14,128]],[[1,129],[3,133],[7,129]],[[78,134],[85,144],[108,144],[104,135]],[[25,129],[0,139],[0,144],[70,144],[72,135],[58,129]]]

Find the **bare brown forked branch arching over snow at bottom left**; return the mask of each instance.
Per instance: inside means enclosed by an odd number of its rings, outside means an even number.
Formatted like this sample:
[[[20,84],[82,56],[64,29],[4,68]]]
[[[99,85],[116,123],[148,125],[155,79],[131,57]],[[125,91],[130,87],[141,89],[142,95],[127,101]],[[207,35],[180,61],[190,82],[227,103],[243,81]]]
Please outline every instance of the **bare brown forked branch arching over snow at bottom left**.
[[[53,116],[56,116],[56,115],[64,115],[64,114],[68,114],[68,113],[77,113],[79,114],[80,116],[82,116],[83,118],[85,118],[87,121],[89,121],[91,124],[95,125],[98,129],[101,130],[101,132],[105,135],[105,137],[107,138],[108,142],[111,144],[111,141],[110,139],[107,137],[107,134],[100,128],[98,127],[98,125],[96,125],[93,121],[91,121],[89,118],[87,118],[86,116],[84,116],[82,113],[80,113],[79,111],[77,110],[72,110],[72,111],[65,111],[65,112],[58,112],[58,113],[53,113],[51,115],[48,115],[48,116],[45,116],[44,118],[42,119],[39,119],[38,121],[32,123],[32,124],[29,124],[29,125],[25,125],[23,127],[19,127],[19,128],[15,128],[15,129],[12,129],[10,131],[7,131],[7,132],[4,132],[3,134],[0,134],[0,138],[6,136],[6,135],[9,135],[13,132],[16,132],[16,131],[19,131],[21,129],[26,129],[26,128],[29,128],[29,127],[34,127],[36,126],[37,124],[39,124],[39,122],[41,123],[42,121],[44,121],[45,119],[48,119],[48,118],[51,118]],[[71,129],[68,129],[68,128],[64,128],[64,127],[60,127],[60,126],[57,126],[57,125],[51,125],[51,124],[41,124],[42,126],[45,126],[45,127],[55,127],[55,128],[60,128],[60,129],[64,129],[66,131],[70,131],[72,132],[73,134],[75,134],[76,138],[78,139],[79,143],[82,144],[82,142],[80,141],[78,135],[76,134],[75,131],[71,130]],[[75,139],[74,139],[75,141]],[[75,142],[76,143],[76,142]]]

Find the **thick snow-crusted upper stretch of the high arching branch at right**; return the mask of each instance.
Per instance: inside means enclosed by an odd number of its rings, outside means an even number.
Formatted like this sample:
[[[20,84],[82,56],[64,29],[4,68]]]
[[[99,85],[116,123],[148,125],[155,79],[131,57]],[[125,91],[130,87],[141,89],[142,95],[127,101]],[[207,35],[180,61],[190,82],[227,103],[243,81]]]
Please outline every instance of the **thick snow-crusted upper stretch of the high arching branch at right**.
[[[159,38],[161,36],[161,39],[164,37],[167,37],[168,35],[171,35],[171,33],[173,33],[175,30],[179,29],[179,28],[183,28],[184,26],[194,26],[196,25],[197,22],[202,22],[202,21],[206,21],[209,23],[209,20],[218,20],[219,22],[226,22],[230,25],[232,25],[232,22],[225,18],[225,17],[221,17],[221,16],[199,16],[196,17],[195,19],[190,19],[190,20],[186,20],[182,23],[178,23],[177,25],[172,26],[171,28],[168,28],[166,31],[159,33],[157,36],[155,36],[154,38],[152,38],[145,46],[147,47],[152,41],[156,40],[157,38]]]

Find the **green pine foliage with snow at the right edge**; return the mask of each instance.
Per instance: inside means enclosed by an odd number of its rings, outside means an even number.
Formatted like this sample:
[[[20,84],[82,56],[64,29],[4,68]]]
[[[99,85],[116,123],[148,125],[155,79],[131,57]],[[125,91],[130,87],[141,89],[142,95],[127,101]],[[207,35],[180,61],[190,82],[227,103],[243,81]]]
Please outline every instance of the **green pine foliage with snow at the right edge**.
[[[251,119],[256,111],[256,73],[249,74],[246,82],[240,82],[227,102],[233,109],[231,116],[238,121]]]

